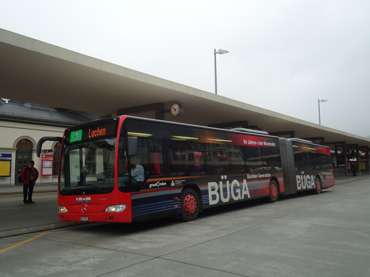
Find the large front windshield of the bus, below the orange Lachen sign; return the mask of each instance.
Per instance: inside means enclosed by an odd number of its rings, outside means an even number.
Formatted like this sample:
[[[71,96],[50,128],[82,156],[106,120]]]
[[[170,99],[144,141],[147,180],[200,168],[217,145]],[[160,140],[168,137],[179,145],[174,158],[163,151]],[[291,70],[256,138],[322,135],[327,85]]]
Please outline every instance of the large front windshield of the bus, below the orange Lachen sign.
[[[114,188],[116,137],[64,145],[61,151],[61,195],[106,194]]]

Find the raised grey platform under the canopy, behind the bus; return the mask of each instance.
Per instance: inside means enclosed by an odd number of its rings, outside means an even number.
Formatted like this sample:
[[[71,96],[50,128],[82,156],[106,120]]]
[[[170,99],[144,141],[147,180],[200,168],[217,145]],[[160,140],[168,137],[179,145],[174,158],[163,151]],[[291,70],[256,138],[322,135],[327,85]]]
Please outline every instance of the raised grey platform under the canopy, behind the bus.
[[[357,174],[337,177],[335,185],[370,177],[370,174]],[[57,185],[35,185],[33,201],[36,204],[24,205],[23,186],[0,187],[0,237],[23,235],[34,232],[88,224],[82,222],[61,222],[57,212]],[[43,194],[44,193],[44,194]],[[50,194],[46,194],[50,193]]]

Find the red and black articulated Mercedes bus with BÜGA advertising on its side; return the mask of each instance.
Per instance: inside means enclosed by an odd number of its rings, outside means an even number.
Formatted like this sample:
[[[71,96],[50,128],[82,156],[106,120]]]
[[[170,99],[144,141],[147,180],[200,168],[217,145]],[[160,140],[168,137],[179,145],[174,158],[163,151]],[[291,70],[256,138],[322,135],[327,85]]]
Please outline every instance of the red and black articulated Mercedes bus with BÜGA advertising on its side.
[[[68,128],[60,141],[59,219],[195,220],[213,206],[334,185],[330,149],[249,129],[117,116]],[[85,169],[84,169],[85,167]],[[133,168],[138,168],[139,175]]]

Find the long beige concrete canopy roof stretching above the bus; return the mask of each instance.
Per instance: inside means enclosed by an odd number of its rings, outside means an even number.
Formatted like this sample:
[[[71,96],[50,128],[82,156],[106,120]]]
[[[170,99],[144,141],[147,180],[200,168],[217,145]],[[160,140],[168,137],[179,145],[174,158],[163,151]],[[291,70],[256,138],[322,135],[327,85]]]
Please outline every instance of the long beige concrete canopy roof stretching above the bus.
[[[207,126],[248,121],[268,133],[370,145],[368,138],[320,126],[181,85],[0,29],[0,97],[115,116],[117,110],[162,102],[184,107],[165,120]],[[134,114],[154,118],[154,112]]]

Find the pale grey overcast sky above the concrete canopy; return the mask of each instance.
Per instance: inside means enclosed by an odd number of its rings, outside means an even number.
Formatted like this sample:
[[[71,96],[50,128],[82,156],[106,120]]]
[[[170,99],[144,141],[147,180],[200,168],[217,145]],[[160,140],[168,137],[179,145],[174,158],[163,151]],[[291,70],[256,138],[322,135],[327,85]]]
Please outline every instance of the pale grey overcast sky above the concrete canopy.
[[[0,28],[369,136],[370,1],[3,0]],[[268,130],[267,130],[268,131]]]

